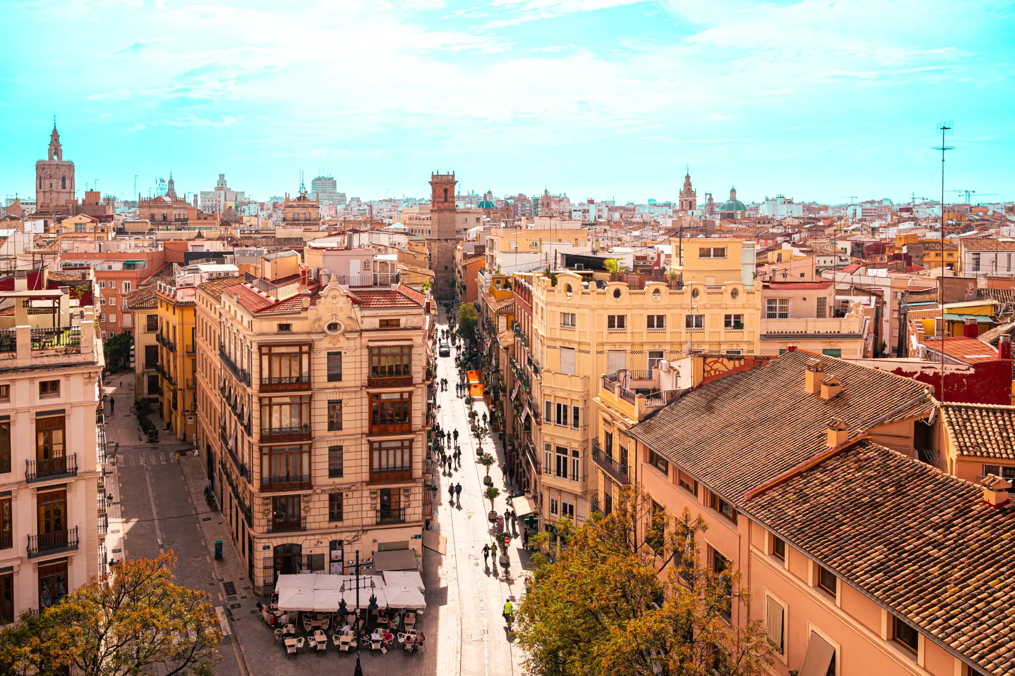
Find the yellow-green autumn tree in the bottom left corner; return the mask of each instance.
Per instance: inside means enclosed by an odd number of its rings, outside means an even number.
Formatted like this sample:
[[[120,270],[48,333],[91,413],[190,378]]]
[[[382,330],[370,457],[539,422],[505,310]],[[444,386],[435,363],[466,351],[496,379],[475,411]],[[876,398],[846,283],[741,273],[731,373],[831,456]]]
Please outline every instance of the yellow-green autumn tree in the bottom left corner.
[[[41,616],[22,616],[0,633],[0,672],[210,676],[218,617],[206,592],[173,582],[175,565],[172,551],[124,560]]]

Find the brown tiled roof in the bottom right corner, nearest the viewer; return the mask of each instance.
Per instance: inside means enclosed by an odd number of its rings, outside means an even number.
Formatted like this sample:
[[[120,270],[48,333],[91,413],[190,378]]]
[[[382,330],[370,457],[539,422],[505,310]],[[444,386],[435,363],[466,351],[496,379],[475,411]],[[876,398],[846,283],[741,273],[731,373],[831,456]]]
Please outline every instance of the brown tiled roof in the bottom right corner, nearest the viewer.
[[[980,670],[1015,674],[1011,503],[862,441],[745,512]]]

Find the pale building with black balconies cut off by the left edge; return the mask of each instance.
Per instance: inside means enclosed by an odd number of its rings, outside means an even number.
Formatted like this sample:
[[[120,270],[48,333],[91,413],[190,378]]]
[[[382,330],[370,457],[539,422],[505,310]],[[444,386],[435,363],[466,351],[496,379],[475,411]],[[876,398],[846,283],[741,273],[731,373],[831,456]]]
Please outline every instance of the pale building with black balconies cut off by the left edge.
[[[66,287],[0,292],[0,623],[106,569],[105,366],[94,309]],[[103,458],[103,461],[105,458]]]

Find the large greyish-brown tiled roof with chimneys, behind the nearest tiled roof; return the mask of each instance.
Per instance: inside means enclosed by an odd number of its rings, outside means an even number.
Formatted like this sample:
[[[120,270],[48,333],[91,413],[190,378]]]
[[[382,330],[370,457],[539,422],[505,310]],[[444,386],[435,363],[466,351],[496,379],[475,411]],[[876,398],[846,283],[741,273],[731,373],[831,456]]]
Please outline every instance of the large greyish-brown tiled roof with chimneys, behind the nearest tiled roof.
[[[828,401],[804,390],[816,356],[843,384]],[[929,398],[922,383],[797,349],[688,393],[628,434],[739,503],[748,488],[824,451],[829,418],[868,429],[907,411],[916,416]]]

